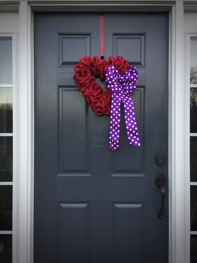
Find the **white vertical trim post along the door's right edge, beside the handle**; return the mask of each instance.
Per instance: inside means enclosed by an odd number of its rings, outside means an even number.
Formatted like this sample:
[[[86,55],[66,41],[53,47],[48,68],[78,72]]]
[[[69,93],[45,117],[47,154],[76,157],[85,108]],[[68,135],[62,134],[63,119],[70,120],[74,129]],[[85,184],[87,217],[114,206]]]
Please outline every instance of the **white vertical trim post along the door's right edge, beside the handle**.
[[[173,28],[170,31],[172,48],[170,50],[171,67],[169,72],[172,83],[169,89],[169,193],[170,246],[171,263],[188,263],[185,261],[185,199],[184,199],[184,10],[183,1],[176,1],[171,16]],[[172,90],[171,90],[172,89]]]

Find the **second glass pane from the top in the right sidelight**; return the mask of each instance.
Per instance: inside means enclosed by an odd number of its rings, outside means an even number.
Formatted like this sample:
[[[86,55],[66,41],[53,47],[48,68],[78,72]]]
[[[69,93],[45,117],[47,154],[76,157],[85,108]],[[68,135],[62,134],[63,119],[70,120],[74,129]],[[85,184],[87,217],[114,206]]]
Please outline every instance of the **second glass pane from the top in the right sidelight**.
[[[197,88],[190,88],[190,133],[197,133]]]

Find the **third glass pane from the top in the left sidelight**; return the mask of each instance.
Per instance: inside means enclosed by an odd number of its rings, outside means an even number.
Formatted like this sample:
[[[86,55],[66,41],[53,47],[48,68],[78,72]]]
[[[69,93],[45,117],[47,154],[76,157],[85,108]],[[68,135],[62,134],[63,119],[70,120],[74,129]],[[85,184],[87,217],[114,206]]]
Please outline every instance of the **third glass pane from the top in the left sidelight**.
[[[0,181],[12,181],[13,167],[12,136],[0,136]]]

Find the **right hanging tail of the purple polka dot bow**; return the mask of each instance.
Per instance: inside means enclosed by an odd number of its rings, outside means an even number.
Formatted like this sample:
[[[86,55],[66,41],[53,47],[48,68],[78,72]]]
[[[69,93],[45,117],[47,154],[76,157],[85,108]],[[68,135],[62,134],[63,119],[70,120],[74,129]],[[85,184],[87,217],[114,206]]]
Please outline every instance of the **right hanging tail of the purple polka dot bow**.
[[[130,96],[124,96],[122,101],[124,104],[125,124],[129,143],[141,147],[132,99]]]

